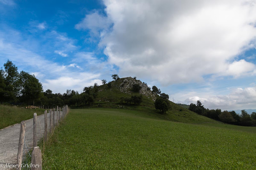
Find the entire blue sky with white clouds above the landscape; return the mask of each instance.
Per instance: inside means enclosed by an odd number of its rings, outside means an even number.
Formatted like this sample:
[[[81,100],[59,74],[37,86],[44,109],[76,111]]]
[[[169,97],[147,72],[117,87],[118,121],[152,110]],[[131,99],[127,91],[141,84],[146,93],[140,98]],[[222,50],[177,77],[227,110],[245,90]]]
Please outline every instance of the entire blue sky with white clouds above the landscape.
[[[44,90],[136,76],[174,102],[256,107],[256,1],[0,0],[0,65]]]

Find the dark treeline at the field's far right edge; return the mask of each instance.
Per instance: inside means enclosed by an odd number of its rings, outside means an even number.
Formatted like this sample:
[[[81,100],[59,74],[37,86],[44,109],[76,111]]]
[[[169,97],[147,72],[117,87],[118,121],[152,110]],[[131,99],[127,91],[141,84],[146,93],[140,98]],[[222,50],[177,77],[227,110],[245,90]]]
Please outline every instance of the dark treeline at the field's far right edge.
[[[199,115],[215,119],[228,124],[241,125],[241,126],[256,126],[256,113],[252,112],[249,115],[245,110],[241,111],[241,115],[236,114],[235,111],[228,112],[227,110],[221,111],[221,109],[208,109],[204,108],[204,105],[198,100],[196,104],[191,103],[189,110],[196,112]]]

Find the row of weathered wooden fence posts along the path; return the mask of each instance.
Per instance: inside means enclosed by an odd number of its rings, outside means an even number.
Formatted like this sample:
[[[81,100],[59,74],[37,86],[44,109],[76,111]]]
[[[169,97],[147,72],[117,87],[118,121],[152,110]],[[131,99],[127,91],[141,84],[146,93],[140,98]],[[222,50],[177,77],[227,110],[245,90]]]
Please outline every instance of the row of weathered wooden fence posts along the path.
[[[60,107],[57,106],[56,110],[56,121],[55,121],[55,108],[50,110],[50,129],[49,134],[51,134],[54,129],[59,125],[59,122],[63,120],[68,114],[69,108],[68,105],[62,107],[62,115],[60,113]],[[18,169],[21,169],[22,164],[22,153],[24,147],[24,136],[25,136],[26,123],[22,121],[20,123],[20,138],[19,138],[19,147],[17,155],[17,166]],[[44,143],[47,141],[47,110],[44,111]],[[40,165],[39,167],[31,167],[31,170],[42,169],[42,153],[40,148],[37,146],[37,114],[34,113],[33,117],[33,151],[31,155],[31,165]]]

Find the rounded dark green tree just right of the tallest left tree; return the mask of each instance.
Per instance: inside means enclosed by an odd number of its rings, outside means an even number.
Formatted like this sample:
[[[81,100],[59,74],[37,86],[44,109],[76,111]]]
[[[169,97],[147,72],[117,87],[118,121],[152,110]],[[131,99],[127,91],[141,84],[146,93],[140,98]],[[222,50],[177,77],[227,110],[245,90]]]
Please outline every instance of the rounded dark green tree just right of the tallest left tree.
[[[20,82],[22,82],[21,94],[27,100],[33,100],[33,106],[35,105],[35,99],[38,99],[43,94],[43,86],[39,80],[25,71],[20,72]]]

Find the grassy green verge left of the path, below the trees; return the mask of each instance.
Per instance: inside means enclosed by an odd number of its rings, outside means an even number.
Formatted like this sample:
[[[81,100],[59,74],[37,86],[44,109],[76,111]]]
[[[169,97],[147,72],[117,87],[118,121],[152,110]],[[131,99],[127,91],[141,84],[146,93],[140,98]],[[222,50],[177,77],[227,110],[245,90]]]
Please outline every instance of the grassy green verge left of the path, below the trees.
[[[0,105],[0,129],[31,119],[34,113],[42,115],[44,109],[23,109],[16,106]]]

